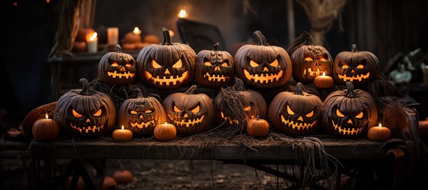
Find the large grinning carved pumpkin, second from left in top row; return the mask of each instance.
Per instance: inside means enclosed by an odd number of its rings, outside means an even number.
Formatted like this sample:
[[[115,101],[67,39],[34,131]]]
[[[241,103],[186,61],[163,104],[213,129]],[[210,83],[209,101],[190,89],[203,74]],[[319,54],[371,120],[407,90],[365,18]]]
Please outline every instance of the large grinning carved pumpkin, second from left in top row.
[[[193,81],[196,53],[184,43],[171,43],[163,28],[163,43],[144,46],[138,53],[138,76],[156,88],[173,89]]]

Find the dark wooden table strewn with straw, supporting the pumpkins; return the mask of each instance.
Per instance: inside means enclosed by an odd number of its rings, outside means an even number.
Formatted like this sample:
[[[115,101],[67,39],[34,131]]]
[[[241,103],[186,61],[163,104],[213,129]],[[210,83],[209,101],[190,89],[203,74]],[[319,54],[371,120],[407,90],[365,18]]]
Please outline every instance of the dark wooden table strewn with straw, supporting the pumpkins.
[[[105,159],[189,159],[189,160],[218,160],[225,164],[245,164],[261,171],[282,177],[295,182],[291,189],[299,189],[299,180],[296,176],[290,176],[282,171],[277,171],[266,164],[296,164],[296,160],[301,160],[296,152],[302,151],[295,145],[304,142],[304,137],[290,138],[291,142],[267,142],[266,140],[256,140],[252,144],[238,144],[235,142],[212,143],[209,146],[201,146],[198,141],[182,140],[180,137],[170,142],[160,142],[153,137],[145,139],[132,139],[125,142],[118,142],[108,137],[96,139],[80,139],[77,137],[61,137],[56,142],[46,143],[34,140],[31,142],[29,150],[31,159],[36,162],[44,161],[46,169],[41,175],[40,171],[31,174],[35,178],[32,182],[35,189],[54,189],[54,186],[63,184],[74,172],[73,177],[82,176],[83,180],[91,183],[89,186],[96,188],[96,181],[92,180],[84,171],[83,162],[88,161],[98,171],[100,176],[105,175]],[[394,140],[390,142],[373,142],[368,139],[338,139],[335,137],[320,135],[306,137],[306,140],[321,142],[323,149],[315,148],[315,151],[325,151],[325,156],[332,165],[338,166],[337,188],[340,189],[340,175],[348,174],[352,176],[350,170],[355,166],[364,166],[366,170],[374,171],[381,169],[386,162],[391,149],[394,149]],[[205,144],[206,145],[206,144]],[[305,146],[303,146],[305,147]],[[305,147],[310,151],[310,147]],[[52,179],[39,179],[40,176],[51,176],[52,168],[58,159],[71,159],[61,182],[54,182]],[[316,159],[319,159],[317,157]],[[38,169],[40,163],[32,164],[34,169]],[[43,165],[43,164],[42,164]],[[386,166],[388,167],[388,166]],[[389,167],[391,168],[391,167]],[[393,167],[392,167],[393,168]],[[359,171],[360,174],[361,171]],[[76,174],[78,173],[78,174]],[[75,181],[76,182],[76,181]],[[98,181],[99,184],[99,181]],[[310,184],[313,188],[322,189],[317,186],[316,181]]]

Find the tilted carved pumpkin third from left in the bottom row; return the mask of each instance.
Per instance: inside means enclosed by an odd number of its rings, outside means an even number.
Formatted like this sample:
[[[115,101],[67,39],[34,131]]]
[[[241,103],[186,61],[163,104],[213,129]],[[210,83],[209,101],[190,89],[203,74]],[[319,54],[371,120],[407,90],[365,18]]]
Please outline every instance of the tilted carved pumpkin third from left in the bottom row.
[[[185,93],[173,93],[163,100],[166,115],[180,134],[205,132],[213,124],[213,101],[203,93],[193,94],[196,88],[192,85]]]

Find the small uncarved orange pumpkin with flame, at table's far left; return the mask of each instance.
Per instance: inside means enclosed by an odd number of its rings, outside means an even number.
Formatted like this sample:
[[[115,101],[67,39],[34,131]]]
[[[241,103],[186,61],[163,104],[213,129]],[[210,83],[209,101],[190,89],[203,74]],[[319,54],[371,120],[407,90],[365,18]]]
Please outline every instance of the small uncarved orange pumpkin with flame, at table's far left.
[[[59,125],[55,120],[49,119],[46,114],[46,119],[40,119],[34,122],[33,136],[39,141],[53,141],[59,137]]]

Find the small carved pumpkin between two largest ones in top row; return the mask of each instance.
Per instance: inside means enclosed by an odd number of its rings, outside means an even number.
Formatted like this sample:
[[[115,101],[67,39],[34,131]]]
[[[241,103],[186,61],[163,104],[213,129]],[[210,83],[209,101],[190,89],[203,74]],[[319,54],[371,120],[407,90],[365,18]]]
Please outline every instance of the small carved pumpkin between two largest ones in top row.
[[[235,77],[235,63],[227,51],[218,51],[215,43],[212,51],[203,50],[196,56],[195,80],[200,85],[220,87],[230,83]]]

